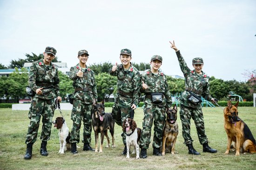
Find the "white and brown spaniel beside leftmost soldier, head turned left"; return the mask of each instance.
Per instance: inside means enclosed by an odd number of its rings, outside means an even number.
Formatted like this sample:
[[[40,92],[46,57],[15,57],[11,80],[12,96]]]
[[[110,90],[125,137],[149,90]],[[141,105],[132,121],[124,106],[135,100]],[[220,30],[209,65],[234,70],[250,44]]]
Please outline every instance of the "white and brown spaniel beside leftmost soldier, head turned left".
[[[60,138],[60,151],[59,153],[64,154],[64,151],[67,149],[71,149],[71,144],[69,143],[70,132],[67,127],[66,121],[62,117],[56,118],[53,122],[54,127],[59,130],[59,138]]]

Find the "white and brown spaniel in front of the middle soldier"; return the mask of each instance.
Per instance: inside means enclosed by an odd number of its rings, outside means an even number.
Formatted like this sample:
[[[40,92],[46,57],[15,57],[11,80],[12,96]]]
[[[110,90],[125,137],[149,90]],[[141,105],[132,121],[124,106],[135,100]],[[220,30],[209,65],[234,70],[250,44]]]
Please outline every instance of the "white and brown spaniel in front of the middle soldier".
[[[126,158],[130,158],[130,147],[134,146],[133,153],[136,150],[136,159],[140,158],[139,153],[139,141],[141,138],[141,129],[137,128],[137,124],[134,119],[127,118],[123,122],[123,131],[126,132],[126,146],[127,146],[127,155]]]

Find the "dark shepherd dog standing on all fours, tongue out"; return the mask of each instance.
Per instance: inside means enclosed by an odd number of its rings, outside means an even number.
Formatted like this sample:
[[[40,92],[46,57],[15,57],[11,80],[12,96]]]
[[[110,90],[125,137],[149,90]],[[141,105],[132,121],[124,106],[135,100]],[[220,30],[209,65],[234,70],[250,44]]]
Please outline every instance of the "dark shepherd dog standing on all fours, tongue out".
[[[109,147],[109,137],[108,130],[112,136],[112,147],[115,148],[115,138],[114,138],[114,127],[115,122],[112,118],[111,113],[105,113],[104,100],[101,103],[94,103],[93,114],[92,114],[92,125],[94,128],[95,135],[95,152],[98,152],[98,144],[99,144],[99,133],[101,133],[101,146],[99,152],[103,150],[103,141],[104,135],[107,137],[108,144],[106,148]]]

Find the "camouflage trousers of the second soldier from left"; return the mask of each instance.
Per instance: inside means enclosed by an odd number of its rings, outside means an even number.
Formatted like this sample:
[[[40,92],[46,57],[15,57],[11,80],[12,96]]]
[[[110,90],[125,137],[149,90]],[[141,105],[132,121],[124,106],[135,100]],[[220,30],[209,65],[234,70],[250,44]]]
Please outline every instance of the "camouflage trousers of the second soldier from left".
[[[92,132],[92,105],[81,103],[80,100],[74,99],[73,109],[71,113],[71,120],[73,120],[73,127],[70,133],[70,143],[79,143],[81,121],[83,120],[83,143],[91,143]]]

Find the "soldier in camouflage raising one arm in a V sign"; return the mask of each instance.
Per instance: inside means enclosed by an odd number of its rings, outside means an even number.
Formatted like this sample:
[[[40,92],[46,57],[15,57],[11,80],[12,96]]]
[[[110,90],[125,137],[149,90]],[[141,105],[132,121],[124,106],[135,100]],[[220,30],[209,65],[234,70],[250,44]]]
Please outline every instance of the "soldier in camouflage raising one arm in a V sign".
[[[170,42],[171,43],[171,42]],[[200,155],[193,147],[193,140],[190,136],[190,119],[195,121],[195,127],[200,144],[203,145],[203,152],[215,153],[217,150],[212,149],[208,145],[208,139],[205,135],[203,122],[201,96],[212,103],[215,103],[215,98],[212,98],[209,93],[209,77],[202,71],[203,59],[194,58],[192,65],[195,68],[193,71],[189,69],[180,51],[171,43],[178,57],[181,70],[185,77],[185,91],[180,97],[180,117],[182,120],[182,136],[184,144],[189,148],[189,154]]]

